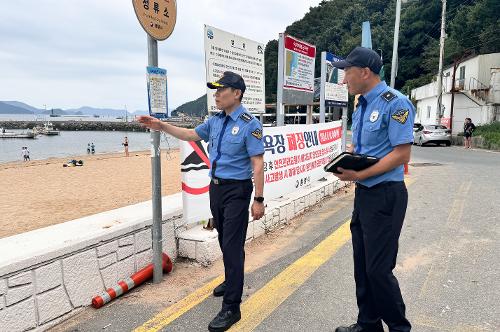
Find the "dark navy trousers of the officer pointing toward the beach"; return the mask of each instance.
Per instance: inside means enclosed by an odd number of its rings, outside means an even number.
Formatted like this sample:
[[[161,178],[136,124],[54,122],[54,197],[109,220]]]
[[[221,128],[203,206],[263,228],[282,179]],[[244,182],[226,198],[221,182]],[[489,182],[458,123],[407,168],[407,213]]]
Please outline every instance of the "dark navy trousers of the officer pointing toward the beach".
[[[210,210],[224,261],[226,291],[222,310],[237,311],[243,294],[245,239],[248,228],[248,207],[252,196],[252,180],[234,183],[210,183]]]

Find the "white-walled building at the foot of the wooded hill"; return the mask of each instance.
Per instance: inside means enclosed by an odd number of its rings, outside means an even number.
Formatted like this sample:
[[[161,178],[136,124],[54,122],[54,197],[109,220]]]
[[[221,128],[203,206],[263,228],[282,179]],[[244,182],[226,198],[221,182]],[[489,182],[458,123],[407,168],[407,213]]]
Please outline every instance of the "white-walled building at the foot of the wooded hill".
[[[500,53],[481,54],[462,61],[455,72],[453,66],[443,70],[441,124],[453,133],[463,130],[466,117],[477,124],[500,121]],[[437,77],[435,81],[411,91],[417,102],[415,122],[436,123],[438,109]],[[453,115],[452,87],[454,86]],[[453,117],[453,119],[452,119]]]

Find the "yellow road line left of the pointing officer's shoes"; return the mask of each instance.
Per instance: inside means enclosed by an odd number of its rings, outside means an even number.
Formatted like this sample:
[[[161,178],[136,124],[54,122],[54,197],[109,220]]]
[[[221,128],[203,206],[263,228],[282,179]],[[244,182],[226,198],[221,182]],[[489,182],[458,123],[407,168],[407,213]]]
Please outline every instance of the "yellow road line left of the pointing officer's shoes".
[[[156,332],[161,330],[163,327],[167,326],[168,324],[185,314],[187,311],[203,302],[208,296],[212,294],[213,289],[217,287],[222,281],[224,281],[223,275],[215,278],[214,280],[189,294],[179,302],[161,311],[146,323],[136,328],[134,332]]]

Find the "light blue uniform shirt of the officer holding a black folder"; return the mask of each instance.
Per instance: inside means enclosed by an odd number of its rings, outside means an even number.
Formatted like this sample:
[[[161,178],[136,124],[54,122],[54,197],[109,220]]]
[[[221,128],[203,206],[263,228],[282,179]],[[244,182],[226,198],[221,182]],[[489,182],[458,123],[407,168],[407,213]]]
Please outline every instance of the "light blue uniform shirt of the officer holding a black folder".
[[[414,119],[415,108],[408,98],[380,82],[359,97],[352,115],[354,152],[382,158],[397,145],[413,143]],[[404,169],[400,165],[359,183],[372,187],[384,181],[403,180]]]

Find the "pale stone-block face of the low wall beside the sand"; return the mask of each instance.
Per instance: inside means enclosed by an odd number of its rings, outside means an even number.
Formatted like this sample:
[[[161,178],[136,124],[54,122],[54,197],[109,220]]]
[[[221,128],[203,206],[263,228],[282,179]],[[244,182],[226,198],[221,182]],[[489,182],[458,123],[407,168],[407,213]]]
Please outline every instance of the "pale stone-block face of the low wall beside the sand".
[[[172,260],[177,257],[175,219],[162,225],[163,252]],[[45,330],[151,264],[152,257],[151,226],[146,226],[0,276],[0,331]]]

